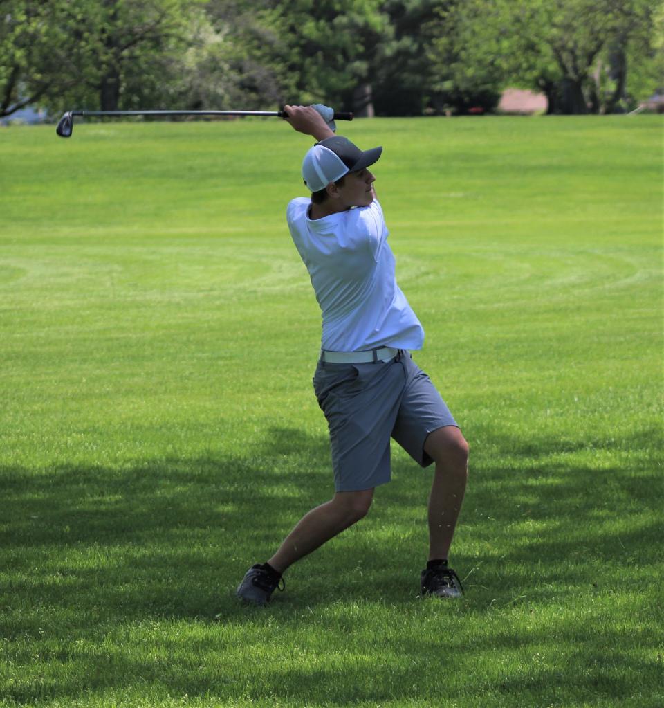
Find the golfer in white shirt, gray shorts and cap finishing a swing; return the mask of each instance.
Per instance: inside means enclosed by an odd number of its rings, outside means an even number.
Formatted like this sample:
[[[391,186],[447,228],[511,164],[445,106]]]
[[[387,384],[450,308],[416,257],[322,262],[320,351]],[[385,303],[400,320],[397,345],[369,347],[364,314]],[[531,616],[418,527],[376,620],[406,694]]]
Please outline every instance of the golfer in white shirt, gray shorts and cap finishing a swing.
[[[336,493],[297,523],[277,552],[252,566],[236,590],[265,605],[285,571],[362,519],[390,481],[390,438],[421,466],[435,464],[428,499],[429,557],[422,595],[459,598],[447,564],[468,478],[468,445],[429,377],[411,358],[424,331],[394,278],[383,210],[362,152],[335,135],[315,108],[285,106],[290,125],[317,142],[302,164],[311,199],[288,205],[290,233],[321,307],[323,336],[314,392],[329,426]]]

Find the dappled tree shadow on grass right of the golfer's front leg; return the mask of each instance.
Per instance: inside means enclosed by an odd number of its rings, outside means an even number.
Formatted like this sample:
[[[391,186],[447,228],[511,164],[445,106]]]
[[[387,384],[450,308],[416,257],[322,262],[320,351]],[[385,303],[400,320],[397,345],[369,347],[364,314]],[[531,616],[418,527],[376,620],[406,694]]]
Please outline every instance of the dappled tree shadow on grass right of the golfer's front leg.
[[[579,559],[641,566],[659,560],[654,551],[664,489],[658,429],[611,440],[508,438],[496,447],[493,464],[480,460],[464,517],[487,544],[492,526],[513,539],[494,557],[554,566]]]

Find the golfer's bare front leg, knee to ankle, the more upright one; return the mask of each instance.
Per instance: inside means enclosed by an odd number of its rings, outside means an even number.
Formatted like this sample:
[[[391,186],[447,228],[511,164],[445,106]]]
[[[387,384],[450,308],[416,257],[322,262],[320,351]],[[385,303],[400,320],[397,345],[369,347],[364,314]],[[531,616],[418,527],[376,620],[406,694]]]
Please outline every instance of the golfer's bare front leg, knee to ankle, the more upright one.
[[[459,428],[433,430],[424,450],[435,462],[429,496],[429,560],[447,560],[468,481],[468,443]]]

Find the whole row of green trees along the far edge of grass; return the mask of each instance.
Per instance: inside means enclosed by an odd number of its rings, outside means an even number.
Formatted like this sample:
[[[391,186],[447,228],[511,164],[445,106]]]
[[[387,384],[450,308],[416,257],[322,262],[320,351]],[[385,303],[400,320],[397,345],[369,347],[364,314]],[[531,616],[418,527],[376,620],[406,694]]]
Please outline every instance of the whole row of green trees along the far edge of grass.
[[[653,0],[0,0],[0,116],[48,108],[358,115],[630,110],[664,82]]]

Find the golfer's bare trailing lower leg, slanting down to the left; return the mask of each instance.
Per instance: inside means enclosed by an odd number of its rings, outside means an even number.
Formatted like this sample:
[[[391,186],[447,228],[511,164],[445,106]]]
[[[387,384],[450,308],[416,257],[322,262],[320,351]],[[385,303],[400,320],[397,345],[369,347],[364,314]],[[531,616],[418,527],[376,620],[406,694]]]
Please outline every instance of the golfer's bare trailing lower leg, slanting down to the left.
[[[283,573],[295,561],[364,518],[373,496],[373,489],[338,491],[331,501],[311,509],[299,520],[268,563]]]

